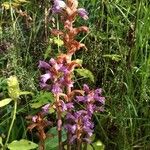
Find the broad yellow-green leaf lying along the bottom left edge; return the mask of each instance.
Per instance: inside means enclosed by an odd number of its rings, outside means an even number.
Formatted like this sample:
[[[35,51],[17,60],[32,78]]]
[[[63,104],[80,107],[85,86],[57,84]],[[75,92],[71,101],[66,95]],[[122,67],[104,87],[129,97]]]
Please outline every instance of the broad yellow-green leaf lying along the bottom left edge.
[[[8,144],[8,148],[10,150],[30,150],[37,147],[37,144],[25,139],[21,139],[20,141],[13,141],[12,143]]]

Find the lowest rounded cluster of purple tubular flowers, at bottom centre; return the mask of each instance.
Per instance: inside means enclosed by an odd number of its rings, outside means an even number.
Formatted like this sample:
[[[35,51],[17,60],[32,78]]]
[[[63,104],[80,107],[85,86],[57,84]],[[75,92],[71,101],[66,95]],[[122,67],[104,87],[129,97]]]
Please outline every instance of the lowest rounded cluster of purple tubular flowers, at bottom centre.
[[[67,113],[65,129],[71,134],[70,143],[82,139],[87,141],[93,134],[94,124],[85,110]]]

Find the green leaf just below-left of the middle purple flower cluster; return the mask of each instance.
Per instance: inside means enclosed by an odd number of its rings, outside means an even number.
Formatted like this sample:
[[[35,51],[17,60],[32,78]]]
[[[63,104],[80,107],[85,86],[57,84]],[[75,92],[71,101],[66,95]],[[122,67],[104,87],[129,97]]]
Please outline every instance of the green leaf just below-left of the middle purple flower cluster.
[[[31,103],[31,108],[37,109],[47,103],[53,103],[54,96],[51,92],[40,92],[39,95],[34,99],[34,103]]]

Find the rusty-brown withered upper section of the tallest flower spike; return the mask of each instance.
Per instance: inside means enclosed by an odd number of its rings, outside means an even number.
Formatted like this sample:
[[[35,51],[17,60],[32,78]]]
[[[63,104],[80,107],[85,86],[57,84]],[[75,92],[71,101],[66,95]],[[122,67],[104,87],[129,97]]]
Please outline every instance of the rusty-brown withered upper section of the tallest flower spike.
[[[67,55],[72,56],[77,50],[85,48],[86,46],[78,42],[75,38],[80,32],[88,32],[88,27],[81,26],[74,28],[73,22],[75,21],[77,14],[78,1],[77,0],[67,0],[66,9],[60,14],[62,23],[64,25],[63,30],[53,29],[51,33],[55,36],[60,36],[64,42],[64,46],[67,50]]]

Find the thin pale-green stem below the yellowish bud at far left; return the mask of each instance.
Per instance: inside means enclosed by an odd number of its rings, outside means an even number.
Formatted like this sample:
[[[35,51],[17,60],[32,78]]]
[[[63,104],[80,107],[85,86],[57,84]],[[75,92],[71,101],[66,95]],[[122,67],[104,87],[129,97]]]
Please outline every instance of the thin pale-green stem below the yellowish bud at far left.
[[[17,100],[14,100],[14,112],[13,112],[12,121],[11,121],[11,124],[10,124],[10,127],[9,127],[9,131],[8,131],[8,135],[7,135],[7,139],[6,139],[4,147],[7,146],[7,143],[9,141],[10,133],[11,133],[14,121],[16,119],[16,112],[17,112]]]

